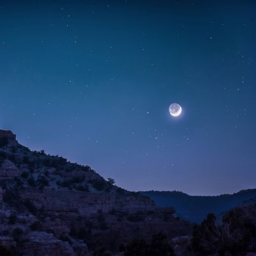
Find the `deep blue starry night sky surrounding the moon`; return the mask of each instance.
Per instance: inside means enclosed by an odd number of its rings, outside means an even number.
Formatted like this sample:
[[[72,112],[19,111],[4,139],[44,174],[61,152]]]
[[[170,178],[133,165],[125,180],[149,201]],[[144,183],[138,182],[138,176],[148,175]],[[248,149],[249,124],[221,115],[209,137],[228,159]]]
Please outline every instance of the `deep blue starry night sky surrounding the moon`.
[[[0,1],[0,129],[125,189],[255,188],[255,10],[253,0]]]

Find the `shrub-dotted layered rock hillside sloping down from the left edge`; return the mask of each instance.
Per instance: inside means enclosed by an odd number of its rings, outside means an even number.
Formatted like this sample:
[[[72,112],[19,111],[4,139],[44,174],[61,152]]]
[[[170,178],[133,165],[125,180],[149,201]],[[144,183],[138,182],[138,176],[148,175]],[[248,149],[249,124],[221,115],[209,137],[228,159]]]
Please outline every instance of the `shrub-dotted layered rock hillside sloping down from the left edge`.
[[[102,247],[115,255],[136,237],[190,234],[172,208],[118,188],[89,166],[33,152],[12,132],[0,134],[8,142],[0,145],[0,245],[14,255],[92,255]]]

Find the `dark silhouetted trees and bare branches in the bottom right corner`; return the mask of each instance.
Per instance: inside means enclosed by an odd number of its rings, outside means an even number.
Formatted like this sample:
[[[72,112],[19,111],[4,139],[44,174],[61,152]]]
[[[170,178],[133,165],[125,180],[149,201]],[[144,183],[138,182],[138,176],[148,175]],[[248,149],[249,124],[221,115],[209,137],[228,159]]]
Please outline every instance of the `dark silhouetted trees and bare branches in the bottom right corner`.
[[[192,245],[196,255],[243,256],[247,251],[256,252],[256,227],[242,208],[228,211],[222,225],[217,226],[215,221],[214,214],[208,214],[201,225],[195,226]]]

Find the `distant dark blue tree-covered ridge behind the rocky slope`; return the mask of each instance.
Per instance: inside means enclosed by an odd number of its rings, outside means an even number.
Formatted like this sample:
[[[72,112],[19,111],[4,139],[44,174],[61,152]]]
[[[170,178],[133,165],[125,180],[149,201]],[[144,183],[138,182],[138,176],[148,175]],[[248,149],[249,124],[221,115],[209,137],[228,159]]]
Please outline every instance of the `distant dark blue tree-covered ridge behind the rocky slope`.
[[[244,189],[234,194],[191,196],[181,191],[140,191],[160,207],[174,207],[180,218],[195,223],[204,220],[209,212],[216,216],[238,205],[256,200],[256,189]]]

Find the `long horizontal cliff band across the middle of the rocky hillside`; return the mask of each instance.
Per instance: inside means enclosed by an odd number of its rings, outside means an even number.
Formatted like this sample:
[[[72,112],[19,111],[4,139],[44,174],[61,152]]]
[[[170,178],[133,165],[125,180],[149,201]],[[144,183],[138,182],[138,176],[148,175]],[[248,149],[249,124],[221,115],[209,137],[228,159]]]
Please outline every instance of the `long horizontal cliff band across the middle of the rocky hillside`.
[[[38,209],[44,207],[45,211],[57,215],[90,216],[99,211],[108,213],[113,209],[127,213],[156,210],[156,205],[148,198],[116,196],[111,193],[44,189],[44,191],[24,191],[20,196],[23,200],[31,200]]]

